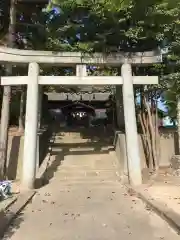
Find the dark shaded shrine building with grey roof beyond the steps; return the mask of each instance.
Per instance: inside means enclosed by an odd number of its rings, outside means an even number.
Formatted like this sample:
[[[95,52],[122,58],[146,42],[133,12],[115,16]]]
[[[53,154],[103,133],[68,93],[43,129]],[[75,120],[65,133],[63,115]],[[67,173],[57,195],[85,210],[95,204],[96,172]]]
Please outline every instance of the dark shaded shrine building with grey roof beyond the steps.
[[[103,87],[98,90],[88,93],[46,93],[48,109],[61,126],[89,128],[103,125],[106,128],[111,125],[116,128],[116,102],[112,94],[115,86],[112,86],[111,90],[105,91]]]

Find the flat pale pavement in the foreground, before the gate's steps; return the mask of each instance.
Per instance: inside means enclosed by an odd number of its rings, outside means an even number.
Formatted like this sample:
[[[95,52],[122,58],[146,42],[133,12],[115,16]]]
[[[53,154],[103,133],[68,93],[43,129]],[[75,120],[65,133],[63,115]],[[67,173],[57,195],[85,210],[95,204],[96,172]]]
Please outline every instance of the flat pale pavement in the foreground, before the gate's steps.
[[[148,211],[140,199],[128,195],[120,183],[104,187],[54,183],[39,191],[3,240],[179,239],[164,220]]]

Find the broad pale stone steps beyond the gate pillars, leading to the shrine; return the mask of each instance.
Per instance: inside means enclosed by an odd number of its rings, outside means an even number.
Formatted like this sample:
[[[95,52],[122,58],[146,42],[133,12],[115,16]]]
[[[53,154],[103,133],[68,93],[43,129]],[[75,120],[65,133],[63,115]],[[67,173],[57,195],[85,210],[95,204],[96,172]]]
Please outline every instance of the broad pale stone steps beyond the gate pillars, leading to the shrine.
[[[106,139],[105,139],[106,140]],[[83,139],[81,134],[61,133],[52,143],[59,165],[53,181],[64,186],[119,184],[114,147],[102,141]],[[58,164],[58,162],[57,162]]]

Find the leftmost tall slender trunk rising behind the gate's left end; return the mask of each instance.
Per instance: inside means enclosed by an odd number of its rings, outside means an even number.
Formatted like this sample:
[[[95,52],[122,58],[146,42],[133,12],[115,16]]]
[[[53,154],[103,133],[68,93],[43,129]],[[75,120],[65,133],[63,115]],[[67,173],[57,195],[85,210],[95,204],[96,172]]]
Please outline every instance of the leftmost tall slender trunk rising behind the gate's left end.
[[[15,25],[16,25],[16,0],[10,2],[9,29],[7,46],[14,47],[15,43]],[[7,65],[6,75],[12,75],[12,65]],[[5,178],[6,158],[7,158],[7,142],[9,127],[11,86],[4,86],[2,107],[1,107],[1,125],[0,125],[0,179]]]

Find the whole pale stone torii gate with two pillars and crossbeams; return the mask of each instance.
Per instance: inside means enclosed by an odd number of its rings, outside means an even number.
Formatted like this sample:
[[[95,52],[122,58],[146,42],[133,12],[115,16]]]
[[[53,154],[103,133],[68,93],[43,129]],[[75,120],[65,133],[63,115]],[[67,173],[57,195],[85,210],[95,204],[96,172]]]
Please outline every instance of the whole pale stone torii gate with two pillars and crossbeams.
[[[34,187],[37,166],[38,97],[40,85],[122,85],[129,179],[142,183],[133,84],[158,84],[156,76],[132,76],[131,64],[161,62],[159,52],[86,55],[75,52],[0,48],[1,64],[29,64],[27,76],[1,77],[1,85],[27,85],[22,187]],[[76,76],[40,76],[39,64],[76,66]],[[87,76],[86,65],[121,66],[121,76]]]

